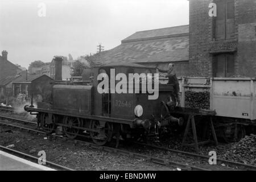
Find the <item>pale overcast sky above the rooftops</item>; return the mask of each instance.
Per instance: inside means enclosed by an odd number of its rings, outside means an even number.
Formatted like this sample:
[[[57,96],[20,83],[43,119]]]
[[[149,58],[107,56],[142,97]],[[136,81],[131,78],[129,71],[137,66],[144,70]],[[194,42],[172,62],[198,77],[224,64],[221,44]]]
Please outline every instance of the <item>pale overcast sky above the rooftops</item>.
[[[39,3],[46,17],[39,17]],[[187,0],[0,0],[0,52],[23,67],[111,49],[136,31],[188,24]]]

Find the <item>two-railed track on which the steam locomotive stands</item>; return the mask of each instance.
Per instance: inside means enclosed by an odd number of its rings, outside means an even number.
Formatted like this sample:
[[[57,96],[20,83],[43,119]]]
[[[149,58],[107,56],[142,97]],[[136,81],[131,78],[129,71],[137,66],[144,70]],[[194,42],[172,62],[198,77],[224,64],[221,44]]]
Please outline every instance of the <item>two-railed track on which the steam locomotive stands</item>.
[[[26,120],[23,120],[23,119],[16,119],[16,118],[4,117],[4,116],[0,116],[0,118],[12,120],[12,121],[19,122],[19,123],[30,123],[32,125],[36,125],[36,122],[26,121]],[[26,127],[12,125],[10,123],[0,122],[0,125],[5,125],[5,126],[9,126],[9,127],[16,127],[20,130],[26,130],[30,133],[46,134],[44,131],[28,129]],[[168,159],[155,158],[153,156],[143,155],[143,154],[139,154],[137,152],[131,152],[131,151],[127,151],[127,150],[121,150],[121,149],[114,148],[114,147],[98,146],[97,144],[94,144],[92,142],[86,142],[84,140],[69,139],[67,137],[63,137],[63,136],[59,136],[59,135],[52,135],[52,137],[60,138],[61,140],[69,140],[70,142],[73,142],[73,143],[76,143],[76,144],[82,144],[82,145],[89,146],[89,147],[92,147],[92,148],[96,148],[96,149],[99,149],[99,150],[102,150],[102,151],[114,152],[114,153],[118,153],[118,154],[122,154],[122,155],[126,155],[126,156],[133,156],[134,158],[148,160],[152,163],[161,164],[161,165],[164,165],[164,166],[171,166],[171,167],[180,168],[180,169],[183,169],[183,170],[209,171],[209,168],[196,167],[196,166],[192,166],[192,165],[188,165],[188,164],[174,162],[174,161],[168,160]],[[152,145],[152,144],[144,144],[144,143],[138,143],[138,142],[134,142],[134,144],[139,144],[139,145],[142,145],[142,146],[155,148],[155,149],[162,150],[162,151],[169,151],[169,152],[176,153],[176,154],[191,156],[193,158],[200,158],[200,159],[205,160],[205,161],[208,161],[208,159],[209,159],[209,156],[199,155],[199,154],[195,154],[195,153],[191,153],[191,152],[185,152],[185,151],[179,151],[179,150],[172,150],[170,148],[159,147],[159,146],[155,146],[155,145]],[[249,164],[243,164],[243,163],[239,163],[239,162],[232,162],[230,160],[217,159],[217,162],[218,163],[225,163],[225,164],[228,164],[229,166],[233,166],[233,167],[241,167],[241,168],[247,169],[247,170],[256,170],[256,166],[252,166],[252,165],[249,165]]]

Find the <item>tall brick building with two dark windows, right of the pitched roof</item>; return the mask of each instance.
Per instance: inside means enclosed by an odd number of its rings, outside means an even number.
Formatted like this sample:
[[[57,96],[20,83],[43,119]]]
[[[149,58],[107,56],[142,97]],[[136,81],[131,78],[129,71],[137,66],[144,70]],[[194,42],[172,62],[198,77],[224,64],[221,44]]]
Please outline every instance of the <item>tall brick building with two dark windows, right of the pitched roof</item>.
[[[255,0],[189,1],[189,68],[191,76],[256,76]]]

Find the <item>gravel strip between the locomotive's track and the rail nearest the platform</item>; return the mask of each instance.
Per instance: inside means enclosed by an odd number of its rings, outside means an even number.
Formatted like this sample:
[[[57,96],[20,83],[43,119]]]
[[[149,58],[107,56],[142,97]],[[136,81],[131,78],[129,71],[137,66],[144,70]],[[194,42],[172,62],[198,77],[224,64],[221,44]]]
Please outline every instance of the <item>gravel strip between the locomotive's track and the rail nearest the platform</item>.
[[[176,170],[176,168],[112,154],[88,146],[75,145],[58,139],[44,139],[46,135],[42,134],[29,134],[3,126],[0,127],[0,133],[0,145],[2,146],[11,145],[14,150],[34,156],[44,150],[47,160],[76,170]]]

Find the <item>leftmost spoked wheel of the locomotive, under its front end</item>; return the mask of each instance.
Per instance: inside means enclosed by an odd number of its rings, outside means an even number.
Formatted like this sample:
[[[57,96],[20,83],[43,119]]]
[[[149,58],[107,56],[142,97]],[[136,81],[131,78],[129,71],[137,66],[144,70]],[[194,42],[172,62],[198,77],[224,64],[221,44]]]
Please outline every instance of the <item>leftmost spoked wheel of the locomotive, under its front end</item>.
[[[40,123],[41,127],[44,131],[46,131],[47,134],[50,134],[55,129],[55,123],[56,123],[56,116],[52,114],[51,121],[49,123],[49,114],[48,113],[42,113],[40,115]]]

